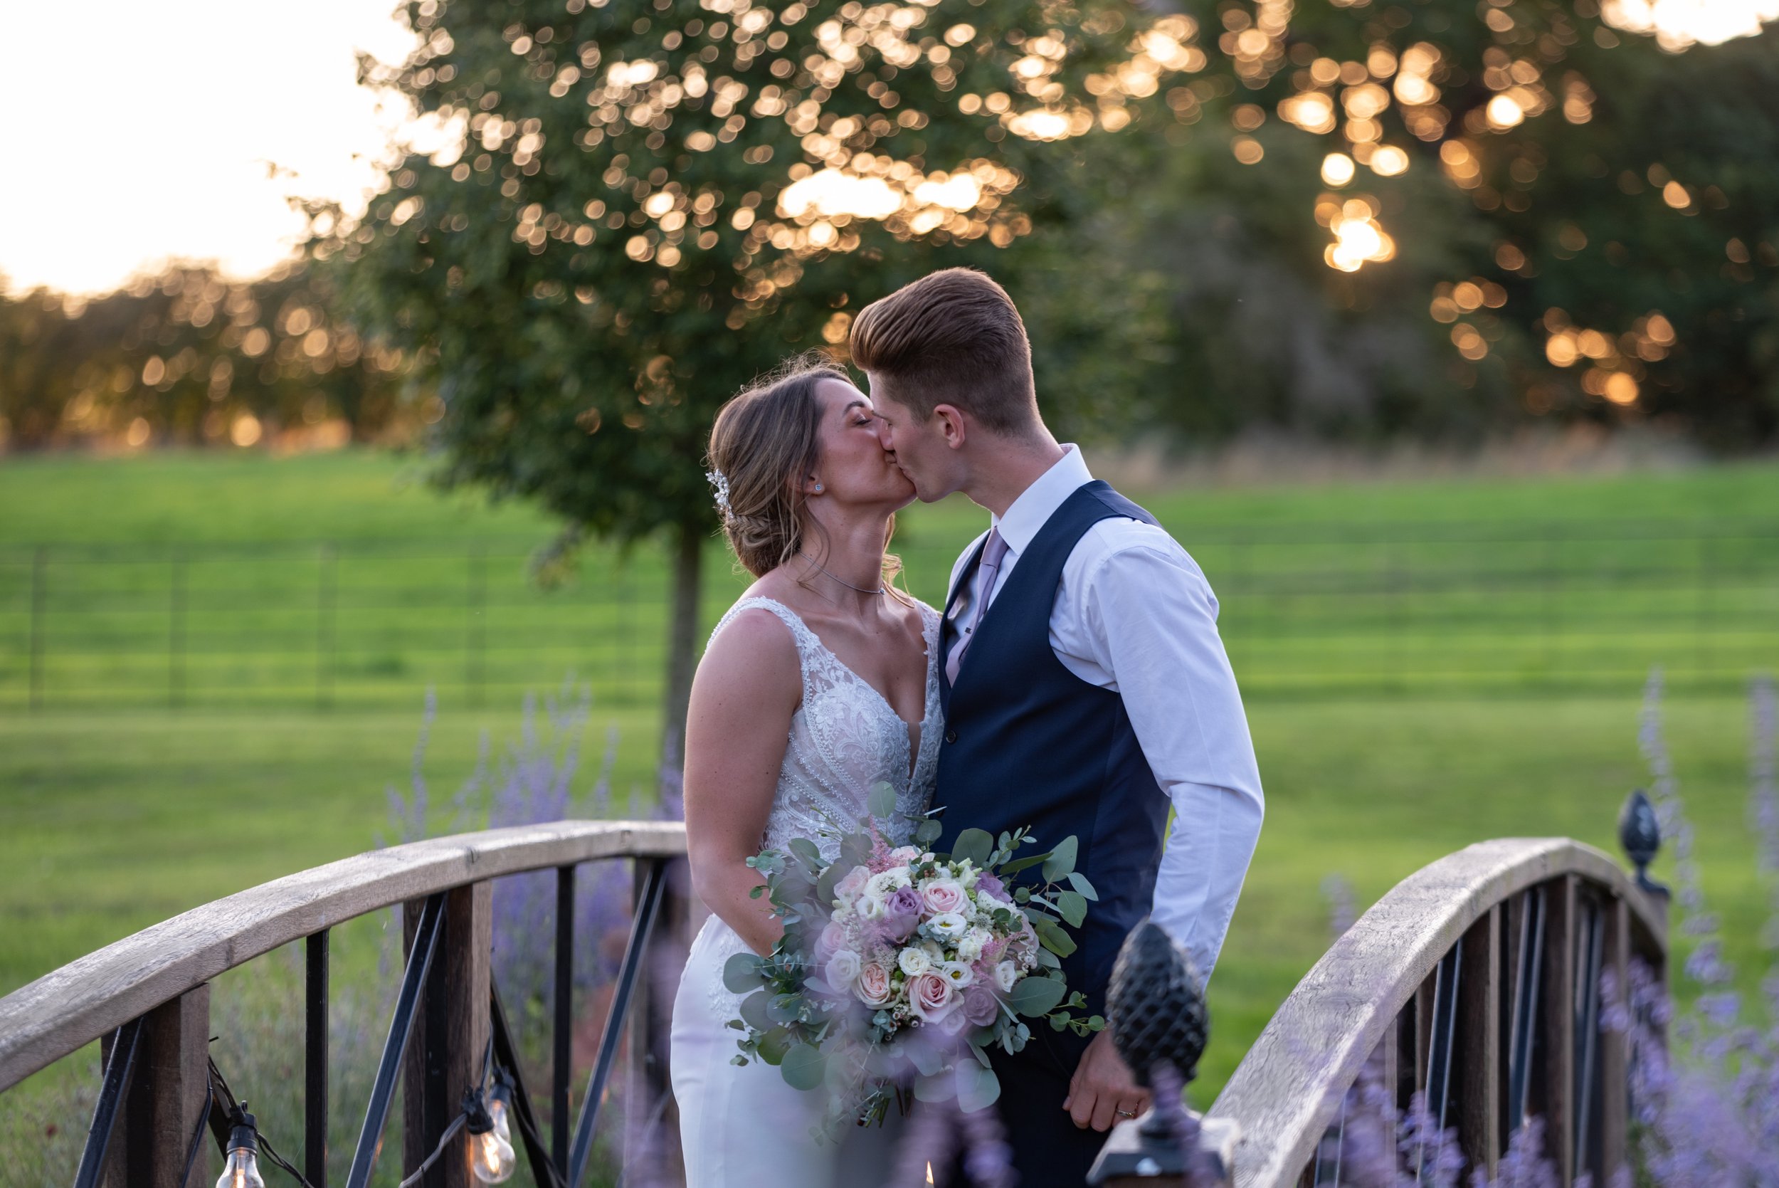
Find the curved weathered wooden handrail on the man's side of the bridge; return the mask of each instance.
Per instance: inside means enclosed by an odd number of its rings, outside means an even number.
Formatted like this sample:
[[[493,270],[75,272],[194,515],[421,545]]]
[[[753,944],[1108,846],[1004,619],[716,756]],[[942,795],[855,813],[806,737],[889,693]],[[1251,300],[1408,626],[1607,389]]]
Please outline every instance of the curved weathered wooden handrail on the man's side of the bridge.
[[[1509,896],[1566,875],[1628,909],[1631,948],[1665,955],[1665,911],[1580,841],[1500,838],[1423,866],[1334,941],[1224,1085],[1208,1117],[1240,1128],[1235,1183],[1295,1184],[1364,1062],[1441,959]]]

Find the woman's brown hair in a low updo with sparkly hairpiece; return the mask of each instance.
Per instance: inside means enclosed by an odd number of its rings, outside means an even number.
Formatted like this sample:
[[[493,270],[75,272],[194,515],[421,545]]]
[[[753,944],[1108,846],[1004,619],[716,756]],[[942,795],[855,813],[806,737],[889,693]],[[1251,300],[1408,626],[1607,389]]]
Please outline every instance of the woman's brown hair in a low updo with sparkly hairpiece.
[[[710,430],[722,532],[756,578],[802,550],[808,502],[802,480],[822,461],[822,402],[815,386],[824,379],[852,382],[827,356],[790,359],[724,404]]]

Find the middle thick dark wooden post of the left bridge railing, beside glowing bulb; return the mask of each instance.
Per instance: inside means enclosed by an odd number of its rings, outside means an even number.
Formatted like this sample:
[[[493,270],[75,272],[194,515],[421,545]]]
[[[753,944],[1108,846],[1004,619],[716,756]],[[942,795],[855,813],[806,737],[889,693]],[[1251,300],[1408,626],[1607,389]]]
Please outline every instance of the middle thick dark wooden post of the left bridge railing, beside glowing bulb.
[[[413,1174],[457,1117],[463,1092],[482,1081],[489,1039],[493,884],[445,895],[445,932],[427,975],[402,1078],[402,1174]],[[413,946],[420,900],[402,905],[404,948]],[[475,1188],[463,1131],[422,1181],[423,1188]]]

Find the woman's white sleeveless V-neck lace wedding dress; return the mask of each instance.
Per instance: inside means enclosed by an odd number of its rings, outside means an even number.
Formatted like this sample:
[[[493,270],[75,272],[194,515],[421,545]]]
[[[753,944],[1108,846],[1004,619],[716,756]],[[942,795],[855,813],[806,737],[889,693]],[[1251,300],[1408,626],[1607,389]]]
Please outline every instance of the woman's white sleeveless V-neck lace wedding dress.
[[[927,702],[918,749],[907,722],[865,678],[843,665],[802,619],[783,603],[747,598],[729,608],[712,638],[738,614],[753,608],[777,615],[802,662],[802,704],[790,720],[785,765],[779,768],[767,818],[765,847],[808,838],[833,861],[841,827],[866,813],[872,784],[897,790],[898,845],[913,825],[907,818],[927,809],[943,731],[939,711],[939,614],[920,605],[927,640]],[[911,754],[913,752],[913,754]],[[722,966],[747,943],[717,916],[704,921],[672,1010],[672,1090],[680,1104],[687,1188],[870,1188],[890,1176],[895,1131],[891,1108],[882,1128],[857,1128],[845,1142],[822,1144],[809,1136],[824,1096],[795,1090],[779,1071],[753,1062],[733,1064],[740,1031],[740,998],[722,985]]]

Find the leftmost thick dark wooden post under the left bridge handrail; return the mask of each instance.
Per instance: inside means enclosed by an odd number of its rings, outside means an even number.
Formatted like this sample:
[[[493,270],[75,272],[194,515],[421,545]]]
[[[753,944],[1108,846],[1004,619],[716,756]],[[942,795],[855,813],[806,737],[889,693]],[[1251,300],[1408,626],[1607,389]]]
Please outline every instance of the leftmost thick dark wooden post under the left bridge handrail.
[[[112,1039],[101,1042],[110,1055]],[[135,1072],[105,1156],[105,1188],[199,1188],[205,1156],[180,1183],[197,1120],[210,1113],[210,985],[142,1015]]]

